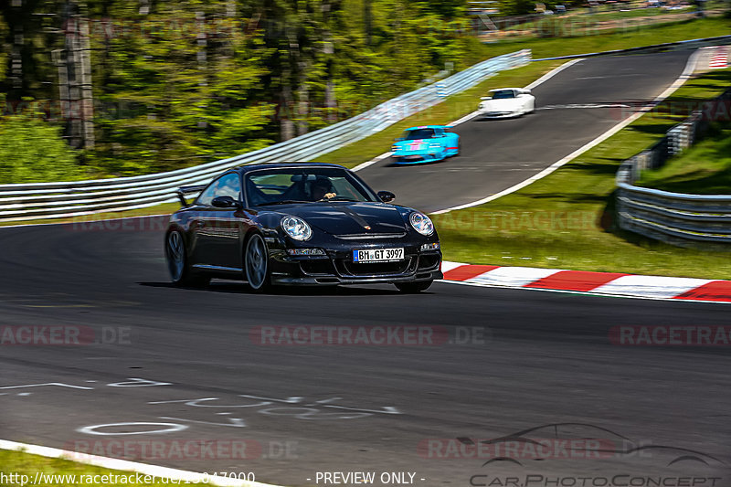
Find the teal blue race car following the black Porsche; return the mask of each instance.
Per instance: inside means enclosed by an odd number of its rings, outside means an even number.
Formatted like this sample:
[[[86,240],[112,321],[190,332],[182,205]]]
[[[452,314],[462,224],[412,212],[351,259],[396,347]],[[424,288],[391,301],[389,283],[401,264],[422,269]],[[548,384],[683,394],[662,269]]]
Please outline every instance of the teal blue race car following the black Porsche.
[[[460,136],[447,132],[450,128],[421,125],[407,129],[391,147],[394,164],[434,163],[460,154]]]

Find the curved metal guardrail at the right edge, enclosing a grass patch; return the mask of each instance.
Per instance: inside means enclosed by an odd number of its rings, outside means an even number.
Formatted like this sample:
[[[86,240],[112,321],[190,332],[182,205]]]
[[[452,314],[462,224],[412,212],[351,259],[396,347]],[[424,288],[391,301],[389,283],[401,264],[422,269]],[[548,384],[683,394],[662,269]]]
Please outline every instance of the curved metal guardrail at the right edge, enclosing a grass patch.
[[[681,246],[731,243],[731,195],[685,195],[634,185],[642,170],[664,164],[689,147],[719,113],[726,114],[731,90],[694,111],[659,143],[620,165],[617,172],[617,216],[620,228]],[[721,110],[718,107],[722,107]]]

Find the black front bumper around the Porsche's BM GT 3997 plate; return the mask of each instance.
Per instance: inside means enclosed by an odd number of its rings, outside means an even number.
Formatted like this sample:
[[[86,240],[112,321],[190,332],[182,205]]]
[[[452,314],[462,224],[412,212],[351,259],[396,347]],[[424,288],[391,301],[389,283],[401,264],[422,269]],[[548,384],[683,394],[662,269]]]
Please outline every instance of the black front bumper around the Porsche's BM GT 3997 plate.
[[[271,281],[281,285],[374,284],[442,279],[441,251],[420,251],[423,242],[352,240],[318,247],[324,256],[297,256],[285,249],[270,251]],[[317,247],[313,245],[313,247]],[[354,249],[404,248],[404,259],[394,262],[353,262]]]

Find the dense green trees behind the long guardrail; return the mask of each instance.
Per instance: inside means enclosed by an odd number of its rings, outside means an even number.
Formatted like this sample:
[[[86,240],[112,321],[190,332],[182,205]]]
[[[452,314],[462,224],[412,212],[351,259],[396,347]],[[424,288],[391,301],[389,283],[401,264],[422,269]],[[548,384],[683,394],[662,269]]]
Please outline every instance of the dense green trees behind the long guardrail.
[[[172,170],[343,120],[445,63],[480,60],[466,9],[464,0],[7,0],[0,183]]]

